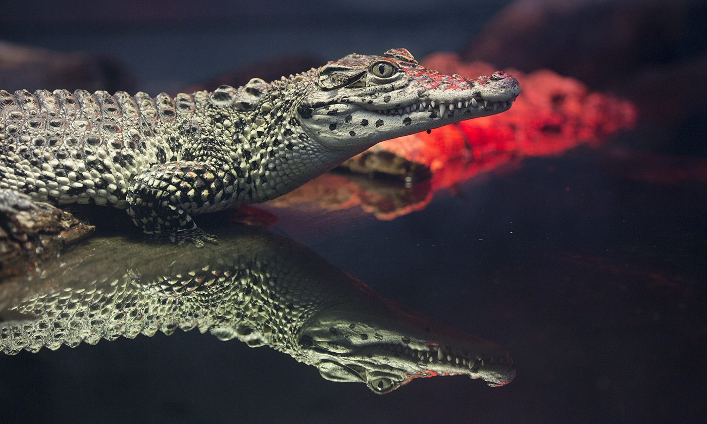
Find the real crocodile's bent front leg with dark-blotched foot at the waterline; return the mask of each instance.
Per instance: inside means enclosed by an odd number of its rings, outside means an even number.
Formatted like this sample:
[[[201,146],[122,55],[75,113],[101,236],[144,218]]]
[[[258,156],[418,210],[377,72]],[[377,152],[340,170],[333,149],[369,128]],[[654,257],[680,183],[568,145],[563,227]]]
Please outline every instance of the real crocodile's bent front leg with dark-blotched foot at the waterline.
[[[133,180],[127,211],[146,234],[168,235],[200,247],[216,239],[197,228],[191,214],[228,208],[237,194],[235,180],[224,164],[185,161],[156,165]]]

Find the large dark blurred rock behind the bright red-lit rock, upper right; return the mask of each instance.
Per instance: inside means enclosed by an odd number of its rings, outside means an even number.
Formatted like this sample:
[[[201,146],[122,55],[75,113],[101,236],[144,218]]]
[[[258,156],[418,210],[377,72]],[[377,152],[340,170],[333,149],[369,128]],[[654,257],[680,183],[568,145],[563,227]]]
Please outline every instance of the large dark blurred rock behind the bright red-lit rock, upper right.
[[[645,139],[653,129],[684,134],[671,153],[707,154],[706,26],[703,1],[517,0],[461,57],[610,90],[636,103]]]

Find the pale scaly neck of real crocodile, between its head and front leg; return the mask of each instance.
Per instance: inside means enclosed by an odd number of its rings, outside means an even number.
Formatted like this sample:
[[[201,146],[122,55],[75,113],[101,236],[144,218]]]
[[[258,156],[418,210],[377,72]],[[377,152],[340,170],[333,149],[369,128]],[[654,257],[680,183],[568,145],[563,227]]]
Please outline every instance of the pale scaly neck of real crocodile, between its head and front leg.
[[[175,160],[233,166],[236,195],[227,208],[286,194],[373,146],[375,141],[330,147],[303,129],[298,110],[317,90],[317,73],[312,69],[271,83],[254,78],[238,89],[221,86],[193,93],[204,125],[170,146]]]

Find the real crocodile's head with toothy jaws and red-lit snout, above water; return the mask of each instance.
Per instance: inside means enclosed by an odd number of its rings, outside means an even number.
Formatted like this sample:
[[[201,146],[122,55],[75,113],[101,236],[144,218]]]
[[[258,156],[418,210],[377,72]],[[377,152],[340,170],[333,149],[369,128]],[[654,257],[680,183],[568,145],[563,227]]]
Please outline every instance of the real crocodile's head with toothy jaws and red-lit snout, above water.
[[[510,108],[518,81],[503,72],[467,79],[425,69],[406,49],[322,66],[297,112],[312,139],[361,147]]]

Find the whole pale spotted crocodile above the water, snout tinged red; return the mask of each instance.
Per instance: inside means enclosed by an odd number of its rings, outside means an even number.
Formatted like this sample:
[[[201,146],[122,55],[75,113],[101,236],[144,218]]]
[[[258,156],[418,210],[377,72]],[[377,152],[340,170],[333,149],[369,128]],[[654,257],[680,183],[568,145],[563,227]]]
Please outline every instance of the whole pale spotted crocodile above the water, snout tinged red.
[[[290,192],[380,141],[508,110],[503,72],[467,79],[406,49],[213,92],[0,90],[0,188],[127,209],[147,234],[213,241],[192,216]]]

